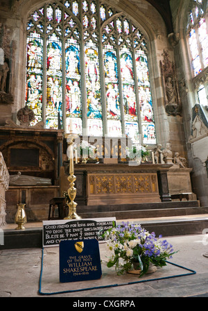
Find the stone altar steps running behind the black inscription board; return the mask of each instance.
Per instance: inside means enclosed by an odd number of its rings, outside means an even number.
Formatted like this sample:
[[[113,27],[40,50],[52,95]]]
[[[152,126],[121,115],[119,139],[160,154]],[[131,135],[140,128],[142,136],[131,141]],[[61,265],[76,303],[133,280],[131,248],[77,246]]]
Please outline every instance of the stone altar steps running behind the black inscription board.
[[[200,207],[198,201],[78,206],[77,212],[83,219],[116,217],[116,224],[133,221],[150,233],[155,232],[163,237],[201,235],[206,234],[203,230],[208,231],[208,206]],[[25,230],[15,230],[15,227],[17,225],[8,224],[1,228],[4,244],[0,245],[0,250],[42,248],[42,222],[28,222]]]

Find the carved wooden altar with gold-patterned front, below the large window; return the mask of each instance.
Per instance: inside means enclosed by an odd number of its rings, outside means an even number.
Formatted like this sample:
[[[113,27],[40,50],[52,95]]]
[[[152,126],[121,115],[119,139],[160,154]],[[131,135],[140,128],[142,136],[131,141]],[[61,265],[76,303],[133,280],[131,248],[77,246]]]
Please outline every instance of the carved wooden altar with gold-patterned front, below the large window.
[[[86,205],[119,205],[132,203],[161,202],[160,185],[166,188],[168,180],[161,180],[161,174],[166,177],[170,165],[153,165],[141,163],[131,166],[128,164],[78,164],[75,165],[77,176],[76,187],[78,196],[84,192]],[[63,171],[62,171],[63,172]],[[62,191],[67,185],[67,167],[61,174]],[[163,178],[164,179],[164,178]],[[164,192],[164,191],[163,191]]]

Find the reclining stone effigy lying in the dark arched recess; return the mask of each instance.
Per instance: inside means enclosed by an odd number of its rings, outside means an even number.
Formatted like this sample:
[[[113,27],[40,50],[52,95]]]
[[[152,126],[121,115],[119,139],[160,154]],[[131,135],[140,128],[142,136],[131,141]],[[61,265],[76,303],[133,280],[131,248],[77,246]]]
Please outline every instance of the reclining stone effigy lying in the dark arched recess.
[[[28,175],[21,175],[21,172],[18,171],[17,175],[10,175],[10,186],[20,186],[20,185],[27,185],[27,186],[47,186],[51,185],[50,178],[42,178],[42,177],[35,177],[35,176],[28,176]]]

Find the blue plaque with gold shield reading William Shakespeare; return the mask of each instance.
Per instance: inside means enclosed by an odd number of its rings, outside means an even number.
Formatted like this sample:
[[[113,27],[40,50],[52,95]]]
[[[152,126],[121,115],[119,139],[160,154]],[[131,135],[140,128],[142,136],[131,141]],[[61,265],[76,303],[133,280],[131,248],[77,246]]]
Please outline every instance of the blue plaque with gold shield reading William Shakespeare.
[[[101,278],[101,258],[97,239],[74,239],[60,242],[60,282]]]

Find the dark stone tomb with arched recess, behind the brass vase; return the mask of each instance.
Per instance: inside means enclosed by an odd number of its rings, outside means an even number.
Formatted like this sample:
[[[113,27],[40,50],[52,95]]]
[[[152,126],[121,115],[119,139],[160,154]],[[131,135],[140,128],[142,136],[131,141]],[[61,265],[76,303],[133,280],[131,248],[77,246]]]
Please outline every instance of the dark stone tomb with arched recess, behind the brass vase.
[[[7,222],[14,221],[18,203],[26,204],[29,221],[48,218],[49,201],[60,196],[62,135],[62,130],[55,129],[1,127],[0,151],[12,176],[6,192]],[[11,184],[19,173],[28,180],[49,180],[50,183],[31,185],[17,181]]]

